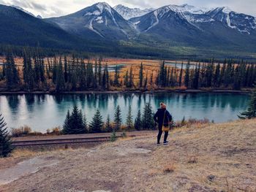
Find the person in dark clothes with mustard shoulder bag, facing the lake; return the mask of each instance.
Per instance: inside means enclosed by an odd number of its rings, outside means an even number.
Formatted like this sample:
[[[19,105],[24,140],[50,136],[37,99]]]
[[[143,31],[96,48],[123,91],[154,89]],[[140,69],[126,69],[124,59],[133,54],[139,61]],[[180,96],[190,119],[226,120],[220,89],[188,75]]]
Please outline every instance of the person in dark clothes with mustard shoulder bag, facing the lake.
[[[164,145],[167,145],[167,137],[169,133],[169,123],[173,120],[170,112],[166,110],[166,104],[160,103],[160,109],[157,110],[157,113],[154,115],[154,121],[158,123],[158,135],[157,135],[157,145],[160,144],[160,139],[162,136],[162,132],[165,132],[164,137]]]

